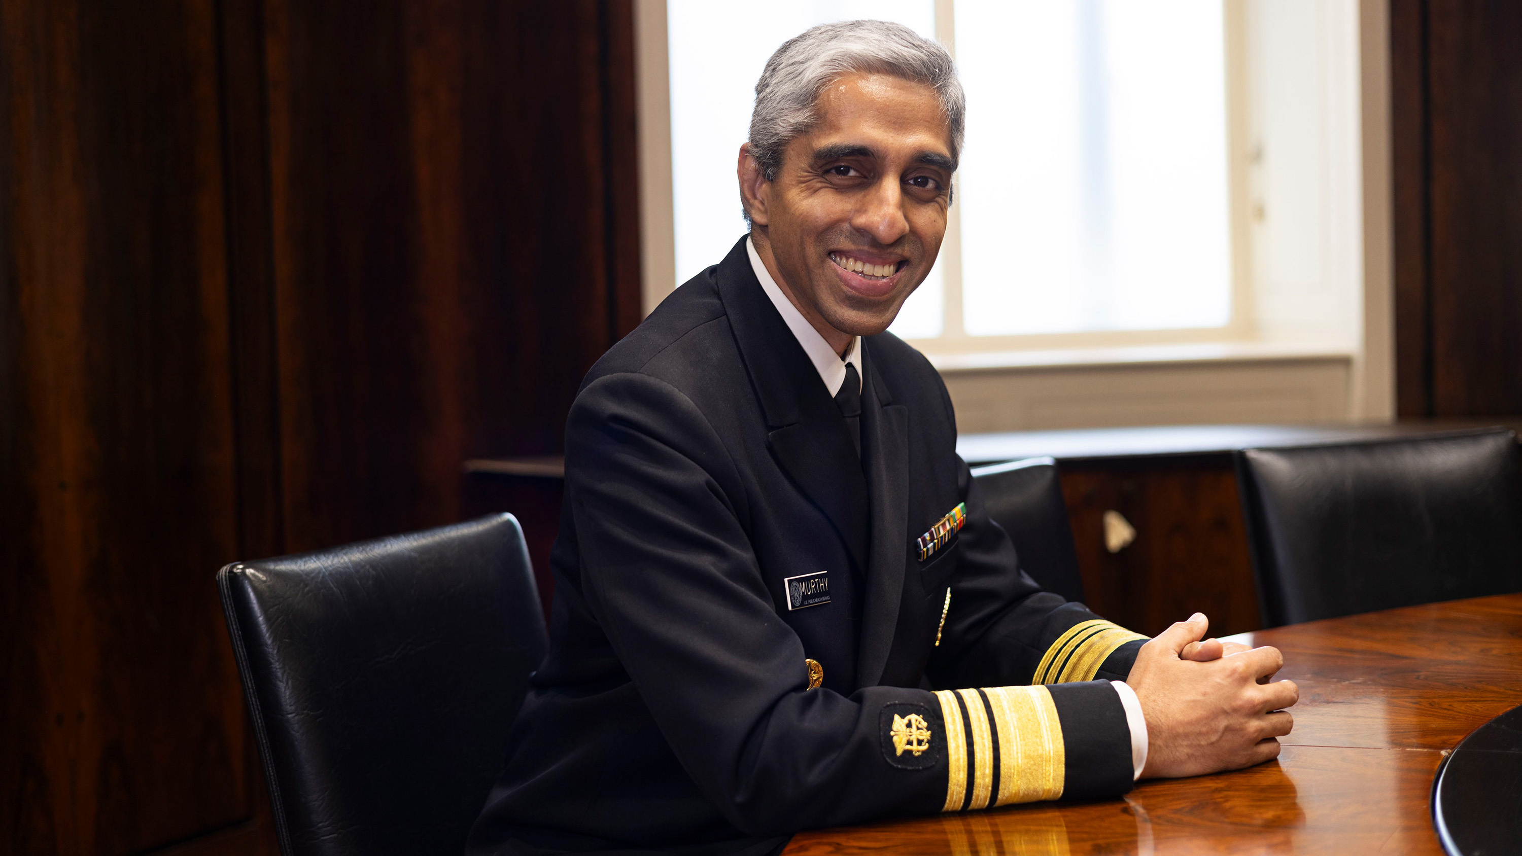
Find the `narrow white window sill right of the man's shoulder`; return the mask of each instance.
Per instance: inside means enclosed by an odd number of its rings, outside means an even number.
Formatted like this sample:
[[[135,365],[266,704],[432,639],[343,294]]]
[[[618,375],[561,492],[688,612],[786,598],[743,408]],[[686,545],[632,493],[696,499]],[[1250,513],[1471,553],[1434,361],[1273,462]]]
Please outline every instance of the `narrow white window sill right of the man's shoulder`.
[[[1178,345],[1132,345],[1120,348],[1053,348],[1030,351],[965,353],[924,350],[922,353],[930,360],[930,365],[942,374],[1262,362],[1350,363],[1353,360],[1353,350],[1345,345],[1310,342],[1190,342]]]

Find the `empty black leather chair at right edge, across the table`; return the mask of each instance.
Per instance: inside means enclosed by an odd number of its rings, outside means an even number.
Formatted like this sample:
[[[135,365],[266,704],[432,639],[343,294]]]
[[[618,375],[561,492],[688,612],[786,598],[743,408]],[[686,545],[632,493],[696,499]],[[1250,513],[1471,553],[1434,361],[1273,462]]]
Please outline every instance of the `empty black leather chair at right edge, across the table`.
[[[1237,456],[1266,626],[1522,591],[1507,429]]]

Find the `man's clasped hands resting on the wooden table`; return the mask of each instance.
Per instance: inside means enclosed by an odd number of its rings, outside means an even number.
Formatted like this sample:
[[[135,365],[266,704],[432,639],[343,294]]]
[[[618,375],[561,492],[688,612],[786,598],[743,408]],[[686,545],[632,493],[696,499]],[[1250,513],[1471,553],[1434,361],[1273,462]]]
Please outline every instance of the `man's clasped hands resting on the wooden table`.
[[[1202,775],[1278,757],[1278,737],[1300,699],[1294,681],[1272,681],[1285,664],[1277,648],[1204,639],[1210,620],[1195,613],[1142,646],[1126,684],[1148,728],[1143,778]]]

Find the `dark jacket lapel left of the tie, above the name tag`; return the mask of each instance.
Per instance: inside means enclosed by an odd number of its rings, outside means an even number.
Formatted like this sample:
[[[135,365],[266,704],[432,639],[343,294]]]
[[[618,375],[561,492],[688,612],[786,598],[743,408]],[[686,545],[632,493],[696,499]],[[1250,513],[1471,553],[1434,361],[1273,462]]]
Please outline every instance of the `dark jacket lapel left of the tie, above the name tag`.
[[[829,518],[857,567],[866,570],[866,480],[840,409],[804,347],[761,290],[744,239],[720,262],[715,280],[750,385],[772,429],[767,435],[772,456]]]

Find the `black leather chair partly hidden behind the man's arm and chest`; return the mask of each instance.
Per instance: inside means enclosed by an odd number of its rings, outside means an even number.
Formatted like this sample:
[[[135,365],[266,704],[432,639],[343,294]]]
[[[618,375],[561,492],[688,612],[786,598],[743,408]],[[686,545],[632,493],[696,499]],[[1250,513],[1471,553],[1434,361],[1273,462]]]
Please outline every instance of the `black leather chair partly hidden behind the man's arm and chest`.
[[[1073,526],[1062,502],[1062,482],[1056,461],[1027,458],[973,470],[988,515],[1015,543],[1020,567],[1068,601],[1084,599],[1084,578],[1078,572]]]

